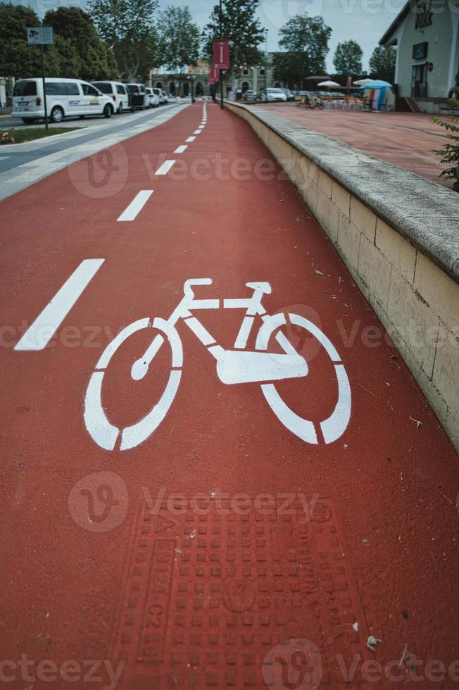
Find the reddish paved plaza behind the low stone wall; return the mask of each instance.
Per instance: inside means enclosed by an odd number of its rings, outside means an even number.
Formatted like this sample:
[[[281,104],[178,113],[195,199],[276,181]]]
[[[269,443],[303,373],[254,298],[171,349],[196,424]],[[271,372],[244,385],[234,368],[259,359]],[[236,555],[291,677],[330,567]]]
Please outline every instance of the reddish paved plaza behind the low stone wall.
[[[432,153],[432,149],[446,144],[445,130],[430,122],[430,116],[424,113],[362,113],[329,108],[319,111],[298,108],[296,103],[255,107],[356,146],[432,182],[450,189],[453,186],[451,180],[439,177],[443,167],[439,156]]]

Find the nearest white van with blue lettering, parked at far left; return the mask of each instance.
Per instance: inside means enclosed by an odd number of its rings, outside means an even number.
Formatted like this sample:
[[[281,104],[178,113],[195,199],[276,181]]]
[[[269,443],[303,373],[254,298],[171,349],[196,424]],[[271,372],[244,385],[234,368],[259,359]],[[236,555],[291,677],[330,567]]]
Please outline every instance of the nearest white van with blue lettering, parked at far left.
[[[78,115],[104,115],[115,112],[113,101],[99,89],[80,79],[46,77],[46,110],[53,123]],[[13,90],[13,118],[26,125],[44,118],[43,82],[41,79],[20,79]]]

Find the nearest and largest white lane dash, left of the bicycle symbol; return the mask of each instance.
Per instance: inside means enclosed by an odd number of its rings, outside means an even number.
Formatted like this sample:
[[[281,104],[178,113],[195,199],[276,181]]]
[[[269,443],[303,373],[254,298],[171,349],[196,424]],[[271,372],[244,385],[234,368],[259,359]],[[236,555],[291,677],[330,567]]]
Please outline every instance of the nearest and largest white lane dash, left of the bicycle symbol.
[[[84,259],[27,329],[15,350],[43,350],[105,259]]]

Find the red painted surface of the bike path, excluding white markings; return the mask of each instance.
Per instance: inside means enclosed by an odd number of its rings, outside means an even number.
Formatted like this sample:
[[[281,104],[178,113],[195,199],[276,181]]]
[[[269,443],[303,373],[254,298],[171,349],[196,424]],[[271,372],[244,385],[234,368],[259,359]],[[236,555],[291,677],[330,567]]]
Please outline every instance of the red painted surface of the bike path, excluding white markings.
[[[385,688],[416,672],[423,688],[442,675],[455,687],[455,451],[397,351],[374,337],[375,314],[294,187],[277,166],[258,179],[271,158],[249,127],[209,104],[203,133],[172,154],[201,113],[196,103],[116,146],[113,175],[94,165],[90,183],[82,161],[2,203],[5,684],[113,687],[113,665],[118,686],[135,690]],[[152,178],[165,158],[175,168]],[[142,189],[154,194],[137,219],[116,222]],[[105,263],[54,339],[14,351],[21,322],[86,258]],[[132,450],[94,442],[84,396],[101,353],[127,324],[168,318],[194,277],[212,278],[196,288],[206,299],[269,282],[268,313],[322,329],[351,385],[337,441],[301,441],[260,383],[223,384],[179,322],[182,380],[163,423]],[[232,348],[243,311],[195,315]],[[323,420],[337,399],[334,366],[301,328],[287,333],[309,373],[277,390],[302,418]],[[134,334],[106,371],[103,406],[120,428],[168,380],[165,346],[143,380],[130,377],[150,341],[151,329]],[[369,635],[381,640],[375,651]]]

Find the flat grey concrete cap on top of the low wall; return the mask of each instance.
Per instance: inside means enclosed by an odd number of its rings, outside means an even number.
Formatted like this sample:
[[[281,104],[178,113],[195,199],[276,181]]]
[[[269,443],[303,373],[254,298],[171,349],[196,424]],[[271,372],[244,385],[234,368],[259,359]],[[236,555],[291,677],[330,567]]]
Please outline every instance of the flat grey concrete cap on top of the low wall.
[[[251,113],[459,282],[457,192],[325,134],[263,112],[259,106],[227,103],[227,107]]]

